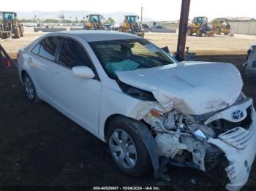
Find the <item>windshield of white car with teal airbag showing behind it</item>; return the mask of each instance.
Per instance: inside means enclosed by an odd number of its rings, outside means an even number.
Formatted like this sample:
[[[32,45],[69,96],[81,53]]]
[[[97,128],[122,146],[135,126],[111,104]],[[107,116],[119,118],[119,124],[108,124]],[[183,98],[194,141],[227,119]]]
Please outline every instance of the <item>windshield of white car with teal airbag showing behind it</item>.
[[[159,47],[145,39],[90,42],[108,76],[116,79],[116,71],[148,69],[175,63]]]

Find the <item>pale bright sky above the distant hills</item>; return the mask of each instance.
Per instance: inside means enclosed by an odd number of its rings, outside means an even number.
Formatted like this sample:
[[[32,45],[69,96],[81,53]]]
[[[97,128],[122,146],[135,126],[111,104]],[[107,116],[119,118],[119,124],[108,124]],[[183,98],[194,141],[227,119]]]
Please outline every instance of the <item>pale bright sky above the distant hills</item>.
[[[42,11],[57,12],[60,10],[91,11],[99,13],[134,12],[155,20],[178,20],[181,0],[12,0],[5,3],[1,11]],[[4,9],[3,9],[4,7]],[[194,16],[215,17],[255,17],[256,0],[191,0],[189,18]]]

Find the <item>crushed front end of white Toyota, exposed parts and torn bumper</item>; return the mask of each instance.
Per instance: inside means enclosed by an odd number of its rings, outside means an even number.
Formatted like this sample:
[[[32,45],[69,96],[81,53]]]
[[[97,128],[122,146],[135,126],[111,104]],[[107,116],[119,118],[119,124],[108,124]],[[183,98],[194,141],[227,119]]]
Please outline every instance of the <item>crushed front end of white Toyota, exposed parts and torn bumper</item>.
[[[239,119],[233,114],[240,114]],[[157,117],[154,112],[148,113],[143,120],[155,133],[158,157],[167,158],[173,165],[208,171],[224,155],[230,180],[226,188],[240,190],[249,178],[256,154],[256,114],[252,98],[241,95],[233,106],[206,116],[197,120],[172,110]],[[189,161],[185,155],[190,155]]]

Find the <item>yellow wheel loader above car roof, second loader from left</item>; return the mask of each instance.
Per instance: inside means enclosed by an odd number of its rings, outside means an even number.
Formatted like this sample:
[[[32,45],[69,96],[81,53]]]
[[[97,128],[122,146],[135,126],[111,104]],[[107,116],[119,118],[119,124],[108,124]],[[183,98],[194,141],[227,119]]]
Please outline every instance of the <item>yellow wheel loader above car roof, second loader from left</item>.
[[[105,30],[104,26],[102,25],[102,15],[91,14],[87,15],[87,23],[84,26],[86,30]]]

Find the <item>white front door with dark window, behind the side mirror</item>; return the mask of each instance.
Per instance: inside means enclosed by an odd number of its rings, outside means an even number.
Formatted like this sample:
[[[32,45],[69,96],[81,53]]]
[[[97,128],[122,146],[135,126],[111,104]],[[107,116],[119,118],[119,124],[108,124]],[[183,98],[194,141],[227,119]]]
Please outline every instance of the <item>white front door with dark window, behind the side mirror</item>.
[[[97,134],[101,82],[83,45],[75,39],[64,38],[58,51],[58,63],[53,69],[54,97],[59,108],[72,120]],[[94,79],[72,75],[72,67],[88,66]]]

